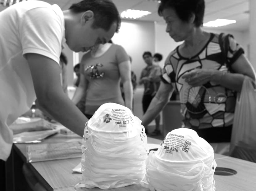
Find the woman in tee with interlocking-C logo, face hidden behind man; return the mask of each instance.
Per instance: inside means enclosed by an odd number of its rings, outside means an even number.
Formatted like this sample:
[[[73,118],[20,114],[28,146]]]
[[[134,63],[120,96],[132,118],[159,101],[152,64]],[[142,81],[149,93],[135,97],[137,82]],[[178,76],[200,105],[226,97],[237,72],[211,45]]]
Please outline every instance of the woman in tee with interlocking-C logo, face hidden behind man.
[[[90,119],[104,103],[118,103],[132,111],[131,64],[124,48],[112,41],[100,44],[83,55],[80,83],[72,101],[77,104],[85,96],[85,116]],[[125,102],[120,80],[123,81]]]

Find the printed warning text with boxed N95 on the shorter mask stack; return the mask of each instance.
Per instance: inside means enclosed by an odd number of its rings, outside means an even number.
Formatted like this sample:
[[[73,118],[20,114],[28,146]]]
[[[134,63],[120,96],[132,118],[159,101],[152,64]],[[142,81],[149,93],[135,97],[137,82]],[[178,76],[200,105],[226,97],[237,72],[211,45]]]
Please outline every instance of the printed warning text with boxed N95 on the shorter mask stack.
[[[163,149],[166,153],[172,154],[173,152],[184,151],[188,152],[191,142],[185,140],[183,135],[168,134],[163,142]]]

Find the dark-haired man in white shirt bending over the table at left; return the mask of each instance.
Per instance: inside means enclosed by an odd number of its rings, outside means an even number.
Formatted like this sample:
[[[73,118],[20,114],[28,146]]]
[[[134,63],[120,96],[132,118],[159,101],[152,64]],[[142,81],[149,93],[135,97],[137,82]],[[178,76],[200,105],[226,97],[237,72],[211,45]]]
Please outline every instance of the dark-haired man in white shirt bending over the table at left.
[[[116,6],[109,0],[84,0],[62,11],[30,0],[1,11],[0,21],[0,160],[10,155],[10,124],[35,99],[42,111],[82,136],[88,119],[61,87],[62,45],[85,52],[109,41],[120,26]]]

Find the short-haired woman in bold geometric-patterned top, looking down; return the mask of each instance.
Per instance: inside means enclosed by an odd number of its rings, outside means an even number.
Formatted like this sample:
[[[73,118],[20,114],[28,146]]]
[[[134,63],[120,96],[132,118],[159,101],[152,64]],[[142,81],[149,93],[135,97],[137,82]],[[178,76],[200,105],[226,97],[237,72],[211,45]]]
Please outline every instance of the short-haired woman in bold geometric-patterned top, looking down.
[[[244,76],[255,80],[255,71],[232,36],[227,39],[229,48],[222,56],[219,34],[202,29],[204,8],[204,0],[162,0],[159,4],[158,13],[167,23],[166,32],[175,42],[184,42],[166,58],[162,82],[142,124],[149,124],[159,114],[176,86],[184,127],[195,130],[215,153],[226,154],[236,92],[241,91]],[[221,145],[226,148],[219,150]]]

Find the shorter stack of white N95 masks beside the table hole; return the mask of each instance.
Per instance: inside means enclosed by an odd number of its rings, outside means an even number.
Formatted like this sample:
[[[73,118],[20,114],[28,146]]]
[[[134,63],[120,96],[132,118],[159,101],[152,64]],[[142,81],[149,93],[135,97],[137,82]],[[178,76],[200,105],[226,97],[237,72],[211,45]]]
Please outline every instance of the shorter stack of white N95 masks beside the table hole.
[[[169,132],[146,166],[151,191],[215,191],[213,148],[192,129]]]

